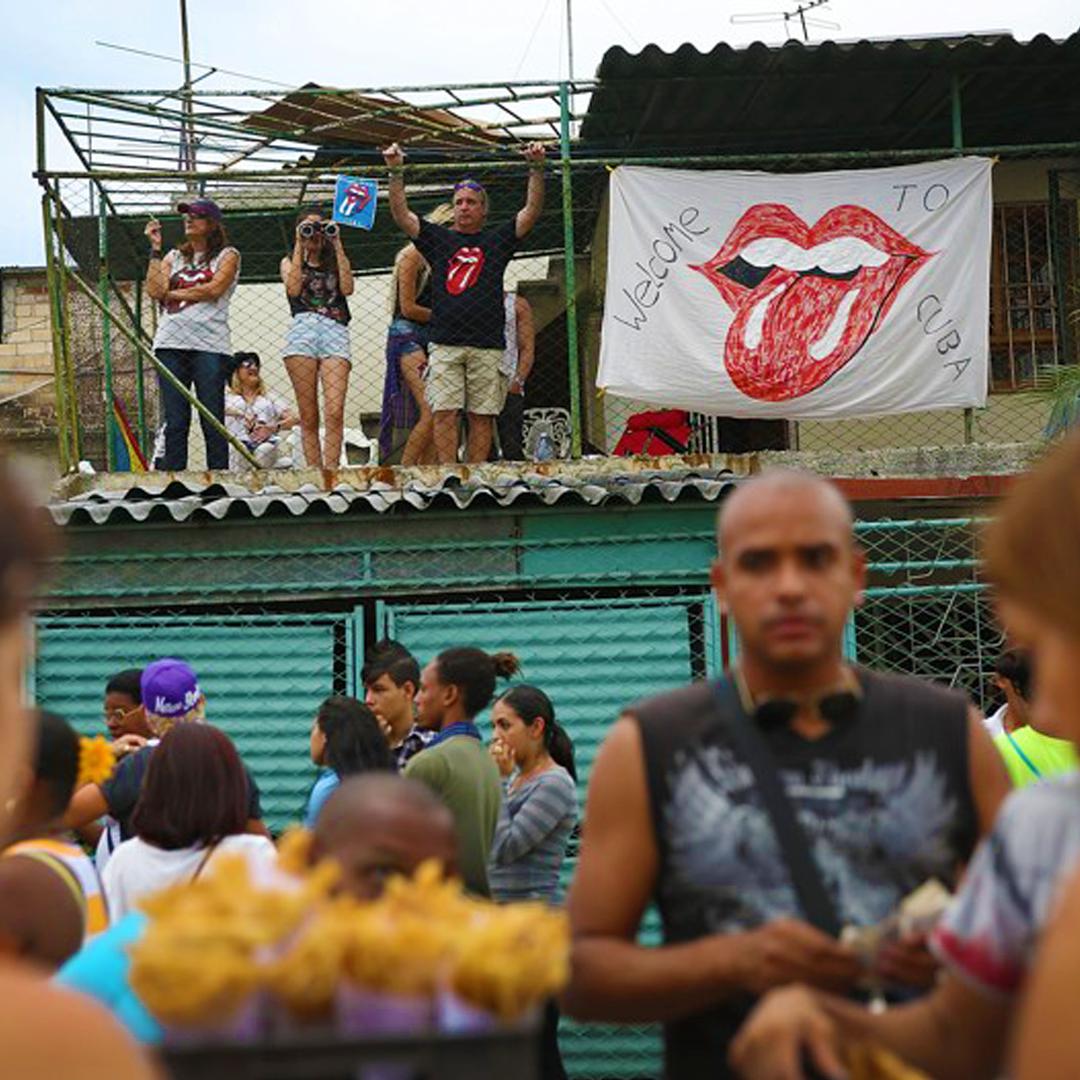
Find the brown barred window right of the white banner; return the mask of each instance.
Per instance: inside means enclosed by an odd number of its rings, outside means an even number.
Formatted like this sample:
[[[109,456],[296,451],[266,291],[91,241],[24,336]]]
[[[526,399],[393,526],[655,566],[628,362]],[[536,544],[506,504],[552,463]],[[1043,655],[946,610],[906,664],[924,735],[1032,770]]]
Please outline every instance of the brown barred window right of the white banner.
[[[1076,215],[1062,207],[1061,270],[1076,281]],[[1051,217],[1047,203],[994,207],[990,372],[994,390],[1022,390],[1039,373],[1069,363],[1061,340]]]

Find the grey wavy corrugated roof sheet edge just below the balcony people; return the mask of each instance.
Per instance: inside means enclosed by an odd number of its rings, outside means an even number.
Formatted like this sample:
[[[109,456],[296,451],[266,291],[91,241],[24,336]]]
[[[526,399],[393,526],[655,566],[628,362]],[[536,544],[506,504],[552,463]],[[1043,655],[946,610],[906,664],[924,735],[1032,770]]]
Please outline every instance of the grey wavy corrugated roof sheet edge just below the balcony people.
[[[585,468],[552,469],[546,473],[540,469],[509,472],[487,467],[431,478],[414,475],[404,482],[391,480],[391,470],[349,469],[338,474],[339,483],[329,489],[311,482],[287,487],[267,484],[253,489],[228,474],[200,482],[198,474],[184,478],[163,474],[157,480],[151,473],[130,486],[105,484],[86,491],[62,494],[50,503],[49,510],[58,525],[103,525],[118,521],[184,522],[192,517],[220,521],[227,516],[272,514],[299,517],[319,512],[386,513],[400,508],[427,510],[440,504],[464,510],[518,502],[553,505],[568,500],[596,507],[611,500],[636,504],[650,492],[669,502],[691,492],[713,501],[735,480],[729,469],[688,468],[683,462],[672,462],[666,468],[634,468],[622,462],[622,469],[615,470],[609,461],[593,469],[588,468],[588,462],[582,464]]]

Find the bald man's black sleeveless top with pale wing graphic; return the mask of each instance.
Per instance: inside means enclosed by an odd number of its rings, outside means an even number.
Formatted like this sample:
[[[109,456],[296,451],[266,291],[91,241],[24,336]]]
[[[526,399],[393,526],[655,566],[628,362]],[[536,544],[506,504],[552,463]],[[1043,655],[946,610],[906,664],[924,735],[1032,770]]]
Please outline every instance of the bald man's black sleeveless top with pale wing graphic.
[[[808,741],[761,728],[845,926],[870,926],[928,878],[955,886],[977,835],[967,701],[906,676],[856,671],[853,717]],[[667,944],[799,915],[768,811],[735,754],[713,685],[629,712],[645,753],[660,852],[656,900]],[[667,1076],[728,1077],[748,998],[672,1023]]]

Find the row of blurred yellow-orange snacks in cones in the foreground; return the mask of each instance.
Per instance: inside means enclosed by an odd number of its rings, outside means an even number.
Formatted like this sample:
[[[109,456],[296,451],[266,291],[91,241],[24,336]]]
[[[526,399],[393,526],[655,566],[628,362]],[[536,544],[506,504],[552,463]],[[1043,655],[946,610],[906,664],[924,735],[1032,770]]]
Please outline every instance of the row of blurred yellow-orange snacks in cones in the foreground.
[[[561,912],[473,899],[433,862],[362,902],[336,895],[337,867],[311,869],[308,855],[306,836],[291,834],[279,881],[257,885],[242,858],[221,856],[144,902],[150,923],[132,947],[131,980],[154,1016],[213,1025],[268,990],[293,1017],[328,1021],[351,986],[414,999],[451,991],[512,1022],[566,983]]]

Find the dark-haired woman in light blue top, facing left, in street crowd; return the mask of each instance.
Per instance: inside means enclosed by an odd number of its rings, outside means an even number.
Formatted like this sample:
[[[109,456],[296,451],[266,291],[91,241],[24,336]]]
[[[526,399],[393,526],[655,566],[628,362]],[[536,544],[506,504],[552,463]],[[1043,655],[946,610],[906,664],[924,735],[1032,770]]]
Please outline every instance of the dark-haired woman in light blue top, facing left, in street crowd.
[[[372,770],[393,771],[394,759],[382,728],[355,698],[327,698],[311,726],[311,760],[323,771],[315,781],[303,824],[313,828],[323,805],[346,777]]]

